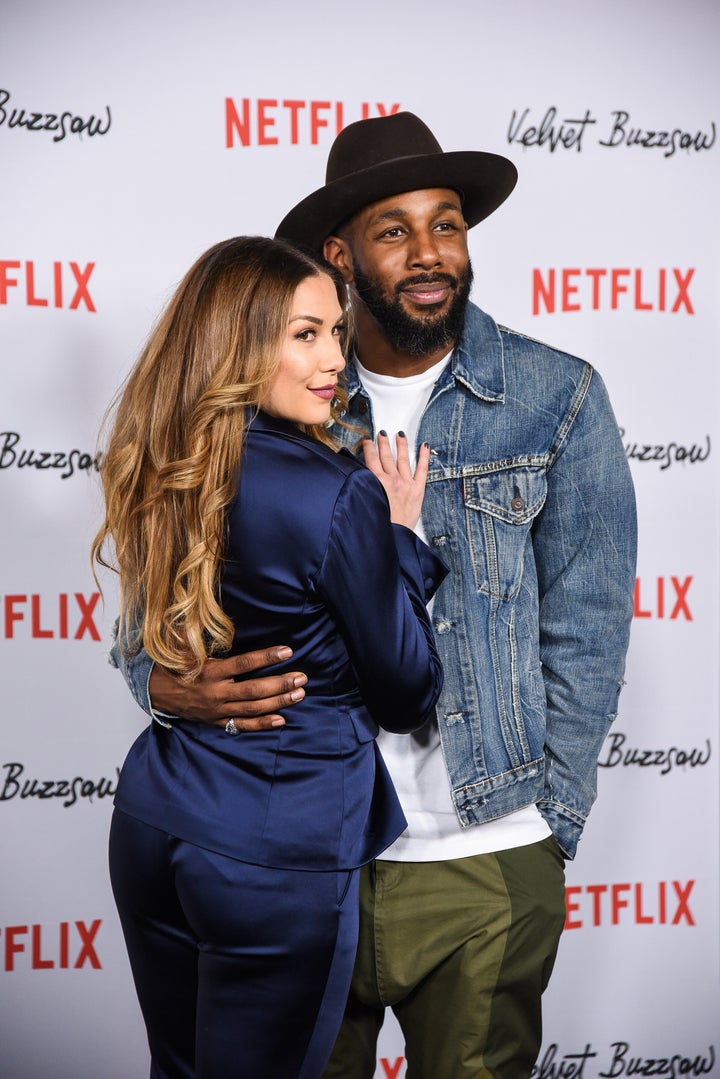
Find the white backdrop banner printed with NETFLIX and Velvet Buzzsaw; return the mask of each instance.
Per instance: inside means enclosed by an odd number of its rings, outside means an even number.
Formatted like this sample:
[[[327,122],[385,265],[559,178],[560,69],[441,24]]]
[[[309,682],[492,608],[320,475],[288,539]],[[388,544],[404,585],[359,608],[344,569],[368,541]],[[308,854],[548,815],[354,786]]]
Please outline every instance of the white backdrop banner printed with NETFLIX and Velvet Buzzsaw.
[[[89,560],[104,411],[196,256],[272,234],[338,131],[405,109],[446,150],[516,163],[471,232],[474,299],[598,368],[637,487],[627,685],[536,1075],[720,1075],[719,41],[710,0],[4,0],[6,1079],[148,1074],[106,869],[144,716],[106,661],[116,585],[100,596]],[[377,1076],[405,1074],[389,1015]]]

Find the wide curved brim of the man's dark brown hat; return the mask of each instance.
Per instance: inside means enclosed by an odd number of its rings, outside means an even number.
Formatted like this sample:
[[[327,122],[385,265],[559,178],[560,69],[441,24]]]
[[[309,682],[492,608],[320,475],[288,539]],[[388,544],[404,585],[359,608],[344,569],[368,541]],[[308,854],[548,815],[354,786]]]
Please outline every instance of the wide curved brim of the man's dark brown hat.
[[[275,235],[322,251],[325,240],[338,226],[363,207],[423,188],[457,191],[464,218],[472,228],[498,209],[516,182],[517,169],[511,161],[480,150],[394,158],[313,191],[285,216]]]

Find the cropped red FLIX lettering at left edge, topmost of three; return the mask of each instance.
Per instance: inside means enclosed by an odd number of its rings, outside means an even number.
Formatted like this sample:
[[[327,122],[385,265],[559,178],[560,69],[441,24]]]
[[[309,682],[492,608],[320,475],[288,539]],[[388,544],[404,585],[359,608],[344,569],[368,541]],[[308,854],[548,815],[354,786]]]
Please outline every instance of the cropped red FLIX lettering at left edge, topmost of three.
[[[94,262],[36,263],[0,259],[0,304],[15,302],[27,308],[67,308],[95,311],[90,293]]]

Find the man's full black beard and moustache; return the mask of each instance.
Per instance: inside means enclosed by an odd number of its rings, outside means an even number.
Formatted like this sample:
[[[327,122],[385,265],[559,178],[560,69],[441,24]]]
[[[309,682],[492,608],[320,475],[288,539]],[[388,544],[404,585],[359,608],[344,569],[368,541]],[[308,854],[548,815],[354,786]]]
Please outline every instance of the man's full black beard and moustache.
[[[458,340],[465,320],[465,309],[473,284],[473,268],[467,267],[460,277],[449,273],[419,273],[395,285],[395,298],[389,300],[377,279],[368,277],[355,262],[354,285],[390,344],[410,356],[427,356],[440,349],[449,349]],[[450,306],[445,314],[410,315],[403,308],[400,292],[408,285],[449,285],[453,289]]]

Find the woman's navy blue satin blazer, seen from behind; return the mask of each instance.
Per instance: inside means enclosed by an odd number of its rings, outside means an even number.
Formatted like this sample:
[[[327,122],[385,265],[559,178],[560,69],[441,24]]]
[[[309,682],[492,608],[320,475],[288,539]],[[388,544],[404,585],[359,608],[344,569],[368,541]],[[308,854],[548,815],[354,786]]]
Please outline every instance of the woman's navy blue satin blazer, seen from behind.
[[[376,747],[404,733],[443,683],[425,604],[439,559],[391,524],[375,476],[293,424],[259,413],[228,510],[221,581],[233,652],[289,644],[277,670],[308,674],[286,725],[229,735],[150,724],[116,805],[180,838],[284,869],[353,869],[406,821]]]

